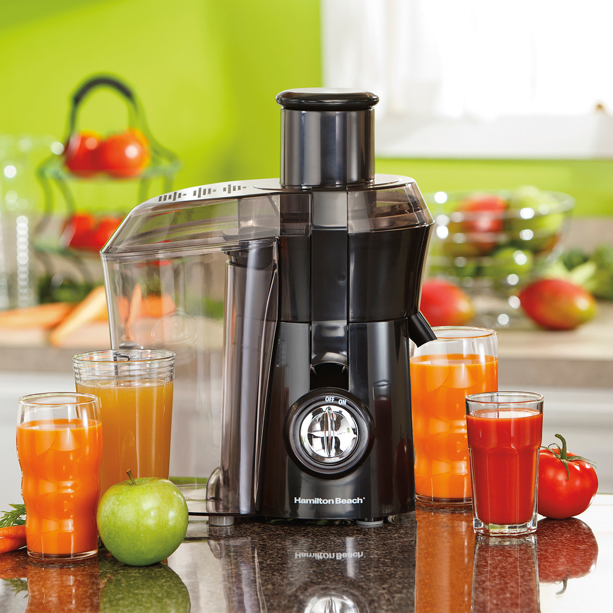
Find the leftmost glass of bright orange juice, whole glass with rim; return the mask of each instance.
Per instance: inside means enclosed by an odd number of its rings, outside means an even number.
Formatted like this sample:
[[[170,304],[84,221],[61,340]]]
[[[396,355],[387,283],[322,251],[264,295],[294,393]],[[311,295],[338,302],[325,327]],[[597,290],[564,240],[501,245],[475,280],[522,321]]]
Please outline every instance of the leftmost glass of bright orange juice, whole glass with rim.
[[[96,396],[54,392],[23,396],[18,402],[17,455],[28,555],[58,562],[96,555],[102,455]]]

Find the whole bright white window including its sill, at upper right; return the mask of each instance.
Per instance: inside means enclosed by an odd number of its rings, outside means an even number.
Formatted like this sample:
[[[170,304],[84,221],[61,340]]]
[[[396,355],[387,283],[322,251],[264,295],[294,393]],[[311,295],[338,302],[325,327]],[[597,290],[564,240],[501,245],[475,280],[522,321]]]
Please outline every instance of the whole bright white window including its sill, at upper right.
[[[324,85],[379,95],[377,153],[613,156],[613,2],[322,0]]]

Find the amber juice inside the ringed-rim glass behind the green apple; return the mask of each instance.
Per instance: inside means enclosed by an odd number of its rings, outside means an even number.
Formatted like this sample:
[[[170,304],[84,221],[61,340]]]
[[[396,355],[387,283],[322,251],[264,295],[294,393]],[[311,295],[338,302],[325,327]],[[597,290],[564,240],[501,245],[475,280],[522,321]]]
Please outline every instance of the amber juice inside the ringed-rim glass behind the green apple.
[[[128,470],[134,478],[168,478],[172,387],[172,381],[151,381],[150,385],[77,383],[77,392],[94,394],[100,402],[102,493],[128,479]]]

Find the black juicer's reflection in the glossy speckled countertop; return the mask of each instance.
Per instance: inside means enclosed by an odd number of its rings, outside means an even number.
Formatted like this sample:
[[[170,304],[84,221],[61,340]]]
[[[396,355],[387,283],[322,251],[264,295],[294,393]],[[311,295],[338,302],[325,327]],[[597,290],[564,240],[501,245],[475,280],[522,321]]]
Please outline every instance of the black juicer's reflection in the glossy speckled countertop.
[[[415,522],[209,527],[229,613],[414,610]]]

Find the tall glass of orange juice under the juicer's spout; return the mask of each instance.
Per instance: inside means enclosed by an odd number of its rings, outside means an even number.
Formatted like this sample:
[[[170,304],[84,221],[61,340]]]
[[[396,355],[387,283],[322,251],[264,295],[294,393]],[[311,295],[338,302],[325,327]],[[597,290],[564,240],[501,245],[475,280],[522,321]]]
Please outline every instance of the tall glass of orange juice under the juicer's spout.
[[[428,504],[471,504],[465,397],[498,389],[494,330],[433,328],[436,340],[411,343],[415,496]]]

